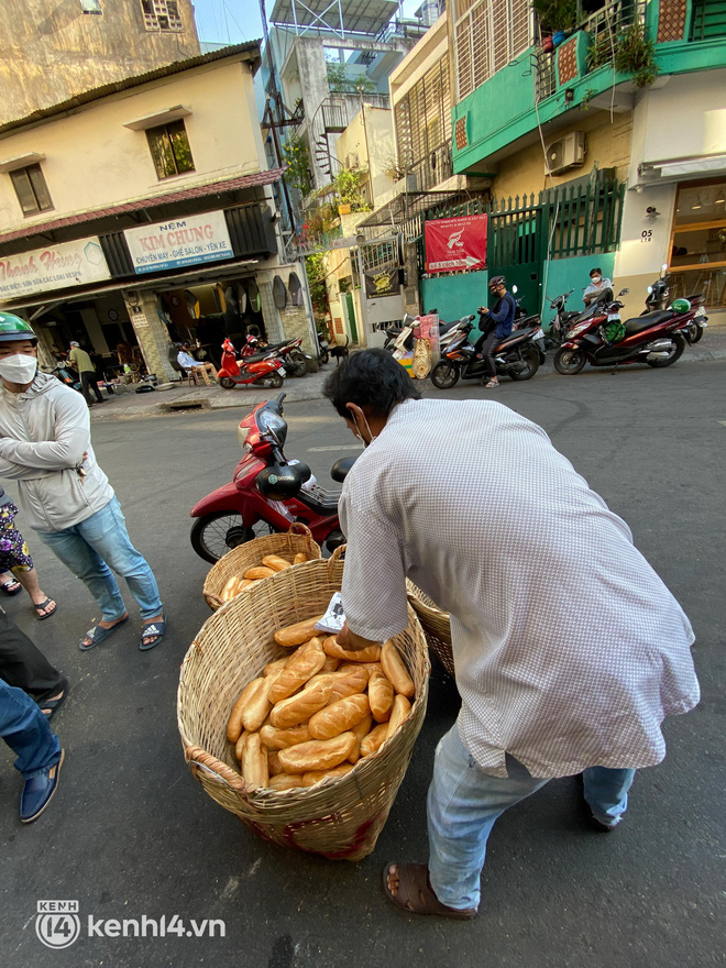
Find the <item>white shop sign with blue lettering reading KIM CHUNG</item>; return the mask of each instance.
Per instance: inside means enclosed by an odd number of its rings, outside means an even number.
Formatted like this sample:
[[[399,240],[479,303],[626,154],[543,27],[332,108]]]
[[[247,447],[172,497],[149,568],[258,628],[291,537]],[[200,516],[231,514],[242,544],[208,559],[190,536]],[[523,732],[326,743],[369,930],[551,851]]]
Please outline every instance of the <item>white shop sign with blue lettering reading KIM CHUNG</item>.
[[[234,256],[221,211],[125,229],[123,234],[139,275]]]

